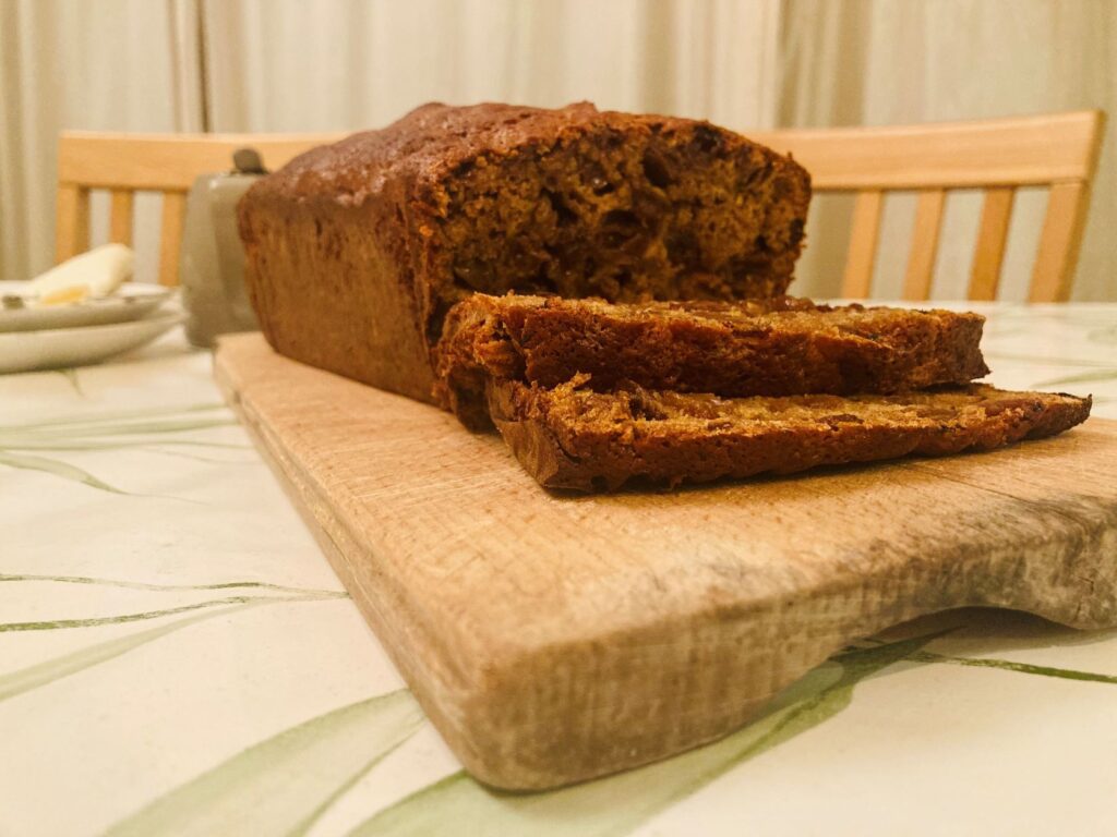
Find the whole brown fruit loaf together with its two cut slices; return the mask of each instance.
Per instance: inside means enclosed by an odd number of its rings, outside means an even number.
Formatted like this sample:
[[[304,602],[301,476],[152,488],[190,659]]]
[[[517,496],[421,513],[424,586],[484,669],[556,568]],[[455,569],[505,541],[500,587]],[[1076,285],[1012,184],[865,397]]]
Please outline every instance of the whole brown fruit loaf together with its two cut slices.
[[[794,161],[704,122],[427,105],[262,179],[239,222],[276,350],[491,419],[548,488],[984,450],[1086,419],[1088,398],[967,384],[987,372],[976,315],[784,297],[810,194]]]

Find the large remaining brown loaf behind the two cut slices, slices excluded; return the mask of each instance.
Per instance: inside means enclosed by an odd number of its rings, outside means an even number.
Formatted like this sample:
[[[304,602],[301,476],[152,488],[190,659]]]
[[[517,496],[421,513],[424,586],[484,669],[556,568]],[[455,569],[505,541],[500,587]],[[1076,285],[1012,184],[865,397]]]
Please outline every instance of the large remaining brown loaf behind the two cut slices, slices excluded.
[[[795,162],[705,122],[426,105],[261,179],[239,223],[276,350],[432,401],[430,347],[471,294],[779,295],[810,193]]]

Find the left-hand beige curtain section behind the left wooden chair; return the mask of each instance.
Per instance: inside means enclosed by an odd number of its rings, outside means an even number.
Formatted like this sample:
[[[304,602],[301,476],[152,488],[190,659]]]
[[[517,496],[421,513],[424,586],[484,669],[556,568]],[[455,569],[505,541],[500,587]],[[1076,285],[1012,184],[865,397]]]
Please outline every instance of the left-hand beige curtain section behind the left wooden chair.
[[[201,129],[197,17],[192,0],[0,0],[0,278],[54,262],[59,131]],[[152,279],[153,200],[137,202],[135,232]],[[92,217],[106,239],[106,199]]]

